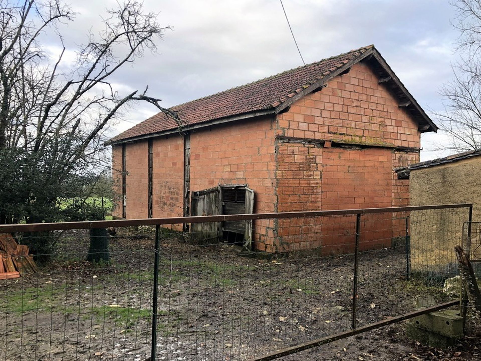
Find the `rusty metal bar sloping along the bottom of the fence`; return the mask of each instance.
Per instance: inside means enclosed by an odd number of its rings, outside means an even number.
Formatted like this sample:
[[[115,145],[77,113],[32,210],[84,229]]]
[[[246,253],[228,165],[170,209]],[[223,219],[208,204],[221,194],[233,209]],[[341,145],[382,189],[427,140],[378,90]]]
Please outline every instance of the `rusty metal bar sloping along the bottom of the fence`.
[[[283,357],[283,356],[291,355],[293,353],[304,351],[306,349],[312,349],[312,348],[317,347],[317,346],[325,345],[329,342],[337,341],[337,340],[340,340],[342,338],[358,335],[360,333],[363,333],[363,332],[366,332],[366,331],[371,331],[371,330],[374,330],[374,329],[379,328],[379,327],[383,327],[383,326],[395,324],[395,323],[398,323],[398,322],[401,322],[401,321],[405,321],[405,320],[408,320],[410,318],[420,316],[422,314],[443,310],[445,308],[453,307],[453,306],[456,306],[458,304],[459,304],[459,301],[449,301],[449,302],[441,303],[441,304],[436,305],[436,306],[424,308],[422,310],[418,310],[418,311],[414,311],[414,312],[410,312],[410,313],[405,313],[401,316],[396,316],[396,317],[389,318],[387,320],[383,320],[383,321],[375,322],[373,324],[361,326],[359,328],[356,328],[355,330],[341,332],[339,334],[332,335],[332,336],[317,338],[316,340],[309,341],[309,342],[306,342],[306,343],[303,343],[303,344],[300,344],[300,345],[297,345],[297,346],[292,346],[292,347],[289,347],[287,349],[282,349],[282,350],[279,350],[279,351],[276,351],[276,352],[272,352],[272,353],[269,353],[269,354],[264,355],[264,356],[259,356],[255,359],[251,359],[250,361],[276,360],[276,359],[278,359],[280,357]]]

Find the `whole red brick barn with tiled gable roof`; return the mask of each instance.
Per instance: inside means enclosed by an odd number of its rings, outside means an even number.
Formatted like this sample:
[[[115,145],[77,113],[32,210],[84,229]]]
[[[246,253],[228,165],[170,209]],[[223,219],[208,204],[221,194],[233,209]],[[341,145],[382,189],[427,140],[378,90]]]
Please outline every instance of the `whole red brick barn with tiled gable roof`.
[[[109,141],[117,191],[124,196],[114,216],[408,205],[408,180],[398,180],[393,169],[418,162],[421,132],[437,130],[374,46],[171,110],[181,124],[159,113]],[[253,248],[268,252],[352,248],[352,229],[333,222],[331,230],[339,232],[321,237],[316,222],[263,220],[253,229],[233,222],[194,230],[207,238],[229,230],[247,241],[252,234]],[[390,232],[378,234],[372,247],[390,244]]]

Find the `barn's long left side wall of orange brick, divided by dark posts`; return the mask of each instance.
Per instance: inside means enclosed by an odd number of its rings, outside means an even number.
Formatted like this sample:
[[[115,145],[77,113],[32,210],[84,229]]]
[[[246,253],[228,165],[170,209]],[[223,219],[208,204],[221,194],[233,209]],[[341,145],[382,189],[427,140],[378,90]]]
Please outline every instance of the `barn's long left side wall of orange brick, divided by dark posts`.
[[[201,191],[219,184],[248,184],[255,193],[254,212],[275,212],[274,139],[273,118],[218,125],[192,132],[190,190]],[[183,138],[176,134],[153,140],[153,217],[182,216],[183,146]],[[121,165],[122,146],[114,146],[114,149],[113,164],[120,162]],[[127,218],[147,217],[147,140],[127,144],[127,172]],[[121,174],[118,177],[121,185]],[[121,194],[121,187],[119,191]],[[122,215],[120,204],[115,215]],[[174,227],[181,228],[181,225]],[[272,244],[273,229],[272,220],[254,222],[254,241],[258,249],[265,250],[267,244]]]

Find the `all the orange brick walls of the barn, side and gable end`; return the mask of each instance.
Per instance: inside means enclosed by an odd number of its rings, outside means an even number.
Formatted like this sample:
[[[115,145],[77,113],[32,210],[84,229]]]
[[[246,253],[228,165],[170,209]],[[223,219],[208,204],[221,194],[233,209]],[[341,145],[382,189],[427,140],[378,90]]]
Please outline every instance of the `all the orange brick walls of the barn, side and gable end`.
[[[276,120],[265,117],[192,132],[190,190],[249,184],[255,192],[255,213],[408,204],[407,182],[397,180],[392,168],[417,162],[418,153],[394,147],[418,148],[418,125],[366,64],[355,64],[326,88],[293,103]],[[281,141],[276,134],[352,147]],[[363,148],[356,149],[355,144]],[[114,148],[115,162],[121,146]],[[176,135],[157,138],[153,152],[153,217],[181,215],[183,140]],[[127,171],[127,217],[146,217],[147,141],[127,144]],[[121,207],[116,214],[119,211]],[[255,247],[283,251],[322,245],[327,253],[343,252],[341,244],[346,251],[353,243],[353,217],[342,221],[343,226],[333,219],[326,220],[327,225],[316,219],[254,222]],[[373,246],[390,238],[365,227],[366,244],[370,237],[383,240]]]

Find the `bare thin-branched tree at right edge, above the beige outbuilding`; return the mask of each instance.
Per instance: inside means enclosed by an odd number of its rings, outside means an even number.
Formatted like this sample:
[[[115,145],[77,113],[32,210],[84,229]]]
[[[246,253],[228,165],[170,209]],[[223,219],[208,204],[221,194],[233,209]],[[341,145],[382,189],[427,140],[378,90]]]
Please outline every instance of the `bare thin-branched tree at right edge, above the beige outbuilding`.
[[[454,26],[460,32],[454,79],[441,90],[444,109],[435,115],[450,137],[444,149],[481,149],[481,1],[453,0]]]

